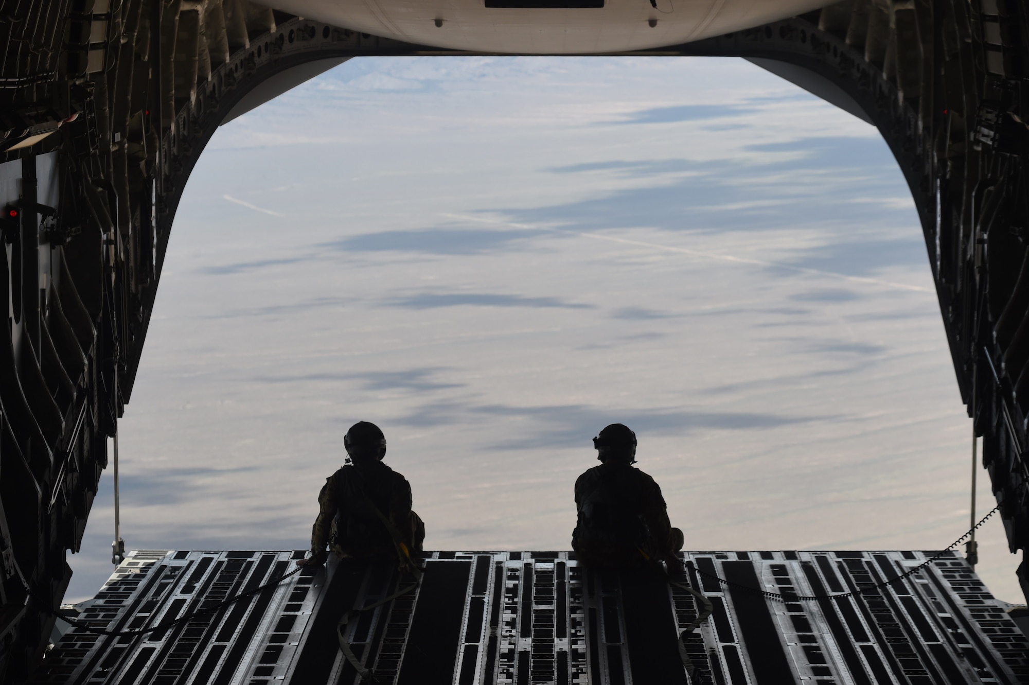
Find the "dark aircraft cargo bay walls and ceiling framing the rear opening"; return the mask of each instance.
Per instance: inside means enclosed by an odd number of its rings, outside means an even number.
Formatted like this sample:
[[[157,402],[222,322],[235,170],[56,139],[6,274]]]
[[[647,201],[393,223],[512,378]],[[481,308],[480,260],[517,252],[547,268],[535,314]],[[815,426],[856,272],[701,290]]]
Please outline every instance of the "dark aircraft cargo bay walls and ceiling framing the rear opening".
[[[874,122],[915,200],[1010,548],[1029,548],[1025,3],[440,0],[443,13],[414,12],[409,27],[398,12],[413,3],[368,0],[397,29],[376,33],[343,15],[326,14],[342,26],[312,19],[334,6],[323,0],[288,2],[0,0],[4,682],[27,680],[43,658],[66,552],[79,548],[132,394],[175,211],[215,130],[353,57],[485,53],[449,36],[487,25],[510,36],[531,26],[524,45],[474,44],[490,53],[744,57]],[[480,29],[462,28],[465,16]],[[615,19],[597,24],[605,16]],[[533,42],[548,31],[556,42]],[[1019,578],[1029,594],[1029,563]]]

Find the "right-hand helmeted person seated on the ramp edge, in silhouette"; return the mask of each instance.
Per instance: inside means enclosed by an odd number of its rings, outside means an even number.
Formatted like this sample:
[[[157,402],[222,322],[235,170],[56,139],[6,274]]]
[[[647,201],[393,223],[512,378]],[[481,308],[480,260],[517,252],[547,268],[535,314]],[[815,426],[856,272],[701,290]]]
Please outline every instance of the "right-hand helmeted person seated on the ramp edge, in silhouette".
[[[611,424],[593,439],[595,466],[575,481],[575,558],[584,566],[634,568],[665,562],[682,571],[682,531],[672,528],[653,478],[633,467],[636,433]]]

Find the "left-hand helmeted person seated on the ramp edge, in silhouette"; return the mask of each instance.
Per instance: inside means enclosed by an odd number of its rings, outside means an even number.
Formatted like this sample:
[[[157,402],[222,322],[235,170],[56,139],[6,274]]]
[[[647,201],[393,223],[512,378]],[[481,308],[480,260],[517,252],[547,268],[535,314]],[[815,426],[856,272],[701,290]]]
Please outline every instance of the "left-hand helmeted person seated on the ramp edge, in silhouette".
[[[386,436],[360,421],[347,431],[347,463],[318,494],[311,556],[297,566],[324,564],[328,548],[341,557],[396,556],[401,568],[422,551],[425,524],[411,509],[411,483],[386,466]]]

